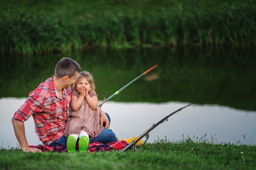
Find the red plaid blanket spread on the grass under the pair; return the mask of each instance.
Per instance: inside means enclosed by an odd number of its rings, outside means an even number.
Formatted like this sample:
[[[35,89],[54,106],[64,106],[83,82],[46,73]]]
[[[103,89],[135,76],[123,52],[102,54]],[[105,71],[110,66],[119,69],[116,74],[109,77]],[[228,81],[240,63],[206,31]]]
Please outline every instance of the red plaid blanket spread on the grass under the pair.
[[[99,152],[99,151],[112,151],[112,150],[122,150],[128,145],[126,141],[112,141],[108,144],[102,144],[100,142],[92,142],[89,144],[87,151],[92,152]],[[67,152],[67,145],[62,144],[61,146],[57,146],[56,148],[52,146],[45,146],[45,145],[38,145],[38,146],[29,146],[30,148],[38,148],[45,151],[54,151],[54,152]],[[79,146],[76,146],[76,150],[79,150]]]

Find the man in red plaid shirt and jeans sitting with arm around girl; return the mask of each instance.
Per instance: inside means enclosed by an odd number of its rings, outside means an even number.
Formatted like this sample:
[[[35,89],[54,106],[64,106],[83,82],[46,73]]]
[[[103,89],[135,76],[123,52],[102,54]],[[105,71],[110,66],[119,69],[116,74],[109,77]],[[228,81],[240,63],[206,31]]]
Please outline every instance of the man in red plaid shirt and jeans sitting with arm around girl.
[[[67,143],[63,131],[67,124],[68,109],[72,94],[72,84],[76,81],[80,65],[71,58],[62,58],[55,67],[54,76],[42,82],[38,88],[29,93],[28,98],[14,113],[12,118],[16,138],[24,152],[42,152],[29,148],[25,136],[24,122],[33,116],[36,134],[46,146],[56,147]],[[106,122],[106,130],[94,138],[94,141],[116,141],[115,133],[108,129],[109,120],[101,111],[101,126]]]

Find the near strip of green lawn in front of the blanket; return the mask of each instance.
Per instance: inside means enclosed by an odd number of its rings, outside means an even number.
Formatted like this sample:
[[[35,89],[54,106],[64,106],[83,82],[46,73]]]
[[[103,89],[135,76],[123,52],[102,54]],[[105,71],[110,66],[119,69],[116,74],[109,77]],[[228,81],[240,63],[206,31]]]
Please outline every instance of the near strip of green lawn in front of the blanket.
[[[256,147],[235,144],[209,144],[190,138],[177,143],[159,141],[145,144],[137,152],[94,152],[74,154],[25,153],[0,149],[4,170],[256,170]]]

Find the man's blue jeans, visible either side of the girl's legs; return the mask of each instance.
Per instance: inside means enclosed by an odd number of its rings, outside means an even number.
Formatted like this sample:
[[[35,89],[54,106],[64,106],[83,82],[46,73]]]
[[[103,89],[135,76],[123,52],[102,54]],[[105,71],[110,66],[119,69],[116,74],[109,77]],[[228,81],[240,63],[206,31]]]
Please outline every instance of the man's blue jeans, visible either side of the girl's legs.
[[[106,113],[106,116],[108,117],[108,120],[110,122],[110,116],[108,115],[108,113]],[[105,126],[103,124],[103,126]],[[76,141],[76,144],[78,145],[78,141]],[[117,137],[116,134],[110,130],[110,129],[106,129],[104,128],[101,132],[101,134],[99,134],[97,137],[95,137],[94,139],[90,140],[90,143],[97,141],[103,144],[107,144],[111,141],[117,141]],[[56,141],[52,142],[52,144],[50,144],[49,146],[55,147],[61,144],[67,144],[67,137],[62,136],[60,138],[58,138]]]

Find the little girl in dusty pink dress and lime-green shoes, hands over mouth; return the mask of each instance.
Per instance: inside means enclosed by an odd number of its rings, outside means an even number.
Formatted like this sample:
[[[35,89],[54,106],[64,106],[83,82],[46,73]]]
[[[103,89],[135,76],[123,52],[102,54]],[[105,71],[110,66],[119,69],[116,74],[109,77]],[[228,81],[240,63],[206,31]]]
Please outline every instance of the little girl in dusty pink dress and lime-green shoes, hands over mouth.
[[[97,94],[92,75],[83,71],[74,82],[71,109],[64,136],[67,137],[67,152],[76,151],[79,138],[79,152],[86,152],[90,140],[97,137],[104,127],[100,126]]]

